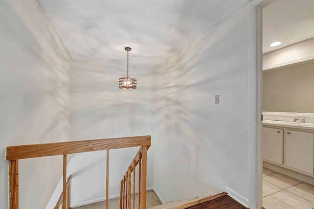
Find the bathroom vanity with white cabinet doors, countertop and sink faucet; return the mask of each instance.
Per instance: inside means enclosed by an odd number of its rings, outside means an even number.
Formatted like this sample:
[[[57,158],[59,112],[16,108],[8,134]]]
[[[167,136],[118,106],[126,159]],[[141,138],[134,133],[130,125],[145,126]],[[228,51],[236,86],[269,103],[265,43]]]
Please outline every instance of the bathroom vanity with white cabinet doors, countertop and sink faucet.
[[[263,160],[314,177],[314,123],[292,122],[293,114],[264,115],[262,128]],[[275,115],[273,115],[275,114]],[[283,114],[283,113],[281,113]],[[294,113],[297,114],[297,113]],[[266,117],[265,117],[266,116]],[[279,117],[276,117],[279,116]],[[274,120],[276,119],[276,120]],[[289,121],[290,120],[290,121]]]

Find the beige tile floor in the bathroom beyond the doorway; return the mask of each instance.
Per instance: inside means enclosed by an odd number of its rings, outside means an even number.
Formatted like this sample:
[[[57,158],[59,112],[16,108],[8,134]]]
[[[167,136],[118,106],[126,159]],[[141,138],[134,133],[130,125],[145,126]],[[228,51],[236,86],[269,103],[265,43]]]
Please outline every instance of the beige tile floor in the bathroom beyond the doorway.
[[[314,209],[314,185],[263,168],[265,209]]]

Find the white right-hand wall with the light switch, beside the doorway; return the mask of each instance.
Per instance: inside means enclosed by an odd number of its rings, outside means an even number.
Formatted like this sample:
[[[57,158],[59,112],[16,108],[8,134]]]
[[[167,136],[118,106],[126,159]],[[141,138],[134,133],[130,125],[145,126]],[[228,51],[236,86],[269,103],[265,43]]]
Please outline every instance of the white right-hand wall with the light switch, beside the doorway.
[[[228,186],[248,204],[248,12],[155,69],[154,187],[165,202]]]

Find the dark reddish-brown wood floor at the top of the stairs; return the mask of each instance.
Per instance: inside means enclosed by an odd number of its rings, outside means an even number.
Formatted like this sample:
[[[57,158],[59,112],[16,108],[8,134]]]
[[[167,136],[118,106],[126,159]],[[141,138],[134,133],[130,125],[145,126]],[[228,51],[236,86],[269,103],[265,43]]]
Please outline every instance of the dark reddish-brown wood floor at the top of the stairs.
[[[246,209],[228,195],[189,207],[188,209]]]

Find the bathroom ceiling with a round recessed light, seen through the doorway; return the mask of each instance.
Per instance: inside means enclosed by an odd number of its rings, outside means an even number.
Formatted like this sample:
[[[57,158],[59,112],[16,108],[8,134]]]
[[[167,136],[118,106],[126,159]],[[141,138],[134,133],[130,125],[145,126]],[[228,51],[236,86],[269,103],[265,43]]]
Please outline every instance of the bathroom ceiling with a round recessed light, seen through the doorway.
[[[263,9],[263,53],[314,37],[314,0],[275,0]],[[269,47],[281,41],[278,47]]]

